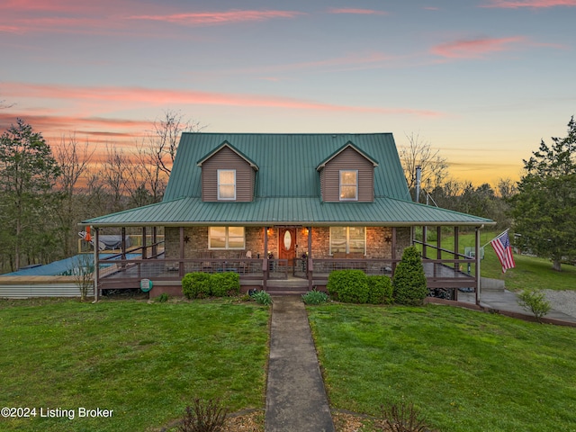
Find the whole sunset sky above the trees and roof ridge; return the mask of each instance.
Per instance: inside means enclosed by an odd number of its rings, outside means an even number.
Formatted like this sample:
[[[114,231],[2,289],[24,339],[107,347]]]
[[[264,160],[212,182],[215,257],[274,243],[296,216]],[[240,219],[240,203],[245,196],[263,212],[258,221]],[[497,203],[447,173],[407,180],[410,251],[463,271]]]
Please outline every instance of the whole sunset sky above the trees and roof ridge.
[[[566,136],[575,23],[576,0],[0,0],[0,130],[414,133],[496,184]]]

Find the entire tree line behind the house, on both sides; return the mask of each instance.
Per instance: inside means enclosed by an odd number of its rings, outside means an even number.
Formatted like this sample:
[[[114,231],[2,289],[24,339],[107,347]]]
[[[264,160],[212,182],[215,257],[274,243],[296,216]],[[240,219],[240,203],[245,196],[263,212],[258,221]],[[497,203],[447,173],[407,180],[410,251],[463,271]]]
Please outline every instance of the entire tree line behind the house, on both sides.
[[[102,160],[75,134],[54,150],[39,131],[18,119],[0,137],[0,271],[46,264],[76,254],[77,223],[103,214],[160,202],[183,131],[202,130],[197,121],[168,110],[152,124],[135,150],[106,145]],[[400,156],[407,183],[416,187],[422,166],[420,202],[497,221],[514,229],[518,246],[551,257],[554,268],[576,256],[576,122],[566,138],[543,140],[524,160],[520,181],[500,179],[474,186],[449,176],[448,163],[418,135]]]

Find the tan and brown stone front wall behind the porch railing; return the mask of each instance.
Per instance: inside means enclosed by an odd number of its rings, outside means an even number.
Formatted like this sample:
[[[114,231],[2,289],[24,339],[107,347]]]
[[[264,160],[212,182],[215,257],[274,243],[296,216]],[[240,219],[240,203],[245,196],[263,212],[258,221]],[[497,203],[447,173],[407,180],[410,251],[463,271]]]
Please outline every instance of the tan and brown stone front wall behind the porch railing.
[[[264,257],[264,229],[262,227],[247,227],[246,248],[243,250],[210,250],[208,248],[208,227],[184,228],[184,258],[200,258],[202,252],[211,251],[215,258],[238,257],[238,254],[246,255],[252,251],[252,257]],[[166,227],[166,258],[177,259],[180,248],[180,229]],[[390,238],[391,241],[386,241]],[[296,257],[308,251],[308,235],[304,228],[296,229]],[[392,258],[392,228],[390,227],[366,227],[366,257],[367,258]],[[402,257],[402,251],[410,246],[410,227],[396,229],[396,257]],[[278,257],[278,229],[270,228],[268,234],[268,250]],[[312,257],[329,257],[330,229],[329,227],[312,228]]]

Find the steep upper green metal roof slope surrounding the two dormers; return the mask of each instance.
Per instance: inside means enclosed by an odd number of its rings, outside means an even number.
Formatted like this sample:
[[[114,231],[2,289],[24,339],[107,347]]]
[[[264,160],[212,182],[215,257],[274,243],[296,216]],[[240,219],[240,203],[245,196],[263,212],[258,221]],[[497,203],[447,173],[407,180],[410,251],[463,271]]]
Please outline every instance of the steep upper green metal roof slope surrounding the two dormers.
[[[392,133],[183,133],[165,200],[202,196],[197,162],[227,141],[258,166],[257,197],[320,197],[317,166],[351,143],[380,164],[374,167],[374,195],[410,200]]]

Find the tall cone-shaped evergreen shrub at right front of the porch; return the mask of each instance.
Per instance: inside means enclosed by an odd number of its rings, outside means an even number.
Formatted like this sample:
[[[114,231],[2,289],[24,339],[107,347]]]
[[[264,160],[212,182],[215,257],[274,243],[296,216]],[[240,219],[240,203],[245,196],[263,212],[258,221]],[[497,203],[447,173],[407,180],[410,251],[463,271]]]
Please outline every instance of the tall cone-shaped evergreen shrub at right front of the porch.
[[[416,247],[404,249],[401,262],[396,266],[392,280],[394,302],[421,305],[428,295],[422,258]]]

